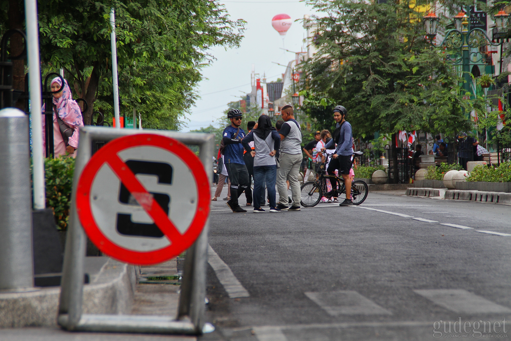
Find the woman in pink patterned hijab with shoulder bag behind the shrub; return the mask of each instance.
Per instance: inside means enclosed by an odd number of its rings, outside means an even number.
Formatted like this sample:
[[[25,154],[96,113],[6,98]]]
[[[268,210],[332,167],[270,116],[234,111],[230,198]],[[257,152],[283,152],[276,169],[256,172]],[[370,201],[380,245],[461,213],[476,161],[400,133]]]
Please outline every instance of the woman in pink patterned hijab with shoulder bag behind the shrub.
[[[53,78],[51,91],[59,90],[61,85],[62,80],[60,77]],[[78,103],[73,99],[73,96],[71,95],[71,89],[69,89],[69,86],[67,85],[67,80],[64,79],[64,87],[62,88],[62,91],[53,94],[53,104],[56,106],[56,110],[53,110],[53,144],[55,156],[57,157],[71,154],[72,157],[75,157],[74,153],[76,148],[78,148],[78,129],[80,126],[83,126],[83,119],[80,106],[78,106]],[[48,111],[50,110],[51,109]],[[45,104],[42,106],[42,111],[46,111]],[[73,135],[69,137],[68,141],[64,141],[64,138],[60,133],[60,127],[59,123],[57,122],[55,112],[57,112],[60,119],[74,131]],[[44,123],[45,120],[42,120],[43,150],[45,148]]]

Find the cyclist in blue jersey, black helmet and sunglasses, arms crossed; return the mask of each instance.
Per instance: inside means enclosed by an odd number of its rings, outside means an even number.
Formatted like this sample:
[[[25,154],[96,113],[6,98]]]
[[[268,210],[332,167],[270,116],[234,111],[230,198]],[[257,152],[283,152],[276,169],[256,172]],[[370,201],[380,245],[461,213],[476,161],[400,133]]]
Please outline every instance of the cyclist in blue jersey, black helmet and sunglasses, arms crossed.
[[[249,185],[248,171],[243,160],[244,148],[241,144],[245,137],[245,131],[240,128],[242,115],[239,109],[229,110],[227,118],[231,123],[222,133],[222,142],[225,145],[224,163],[230,180],[230,200],[227,201],[227,206],[235,213],[246,212],[240,207],[238,198]]]

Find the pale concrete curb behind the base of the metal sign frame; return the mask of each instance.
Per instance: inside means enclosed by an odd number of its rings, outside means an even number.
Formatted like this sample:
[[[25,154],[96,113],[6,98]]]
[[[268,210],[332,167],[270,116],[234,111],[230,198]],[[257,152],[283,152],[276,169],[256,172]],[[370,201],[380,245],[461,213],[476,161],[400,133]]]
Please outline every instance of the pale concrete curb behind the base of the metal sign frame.
[[[83,313],[129,314],[136,286],[134,266],[109,259],[83,287]],[[57,326],[60,287],[0,293],[0,328]]]

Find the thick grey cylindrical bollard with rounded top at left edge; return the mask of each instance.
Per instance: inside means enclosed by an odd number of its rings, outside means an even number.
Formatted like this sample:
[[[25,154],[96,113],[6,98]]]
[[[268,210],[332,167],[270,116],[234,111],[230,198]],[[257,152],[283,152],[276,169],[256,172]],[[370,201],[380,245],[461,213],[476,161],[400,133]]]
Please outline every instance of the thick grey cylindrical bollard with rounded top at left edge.
[[[29,118],[0,110],[0,291],[34,288]]]

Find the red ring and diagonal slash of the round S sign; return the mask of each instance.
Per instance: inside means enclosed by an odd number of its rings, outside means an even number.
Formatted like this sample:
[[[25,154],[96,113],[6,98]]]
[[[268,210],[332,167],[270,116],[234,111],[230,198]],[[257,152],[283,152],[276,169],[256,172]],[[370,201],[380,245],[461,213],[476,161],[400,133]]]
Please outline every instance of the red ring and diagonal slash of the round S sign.
[[[194,176],[195,183],[197,185],[198,200],[195,216],[187,231],[185,231],[182,235],[177,229],[175,229],[175,226],[165,214],[165,211],[161,209],[155,200],[152,200],[152,205],[150,205],[145,200],[141,201],[135,197],[141,206],[144,207],[148,215],[153,218],[153,221],[158,228],[160,228],[160,230],[162,230],[162,232],[171,241],[171,245],[153,251],[130,250],[110,241],[98,227],[90,207],[90,189],[92,187],[92,183],[94,182],[99,169],[105,163],[108,164],[113,173],[128,188],[128,190],[130,187],[136,188],[142,192],[142,196],[140,198],[147,198],[144,197],[144,195],[147,194],[145,188],[140,184],[140,182],[138,182],[129,167],[117,155],[123,150],[137,146],[153,146],[173,153],[190,168],[190,172]],[[131,182],[127,180],[130,180]],[[144,191],[146,191],[146,193],[144,193]],[[133,196],[135,195],[133,194]],[[80,219],[87,236],[103,253],[126,263],[150,265],[169,260],[182,251],[188,249],[195,242],[206,223],[208,215],[210,214],[209,199],[210,184],[202,162],[192,151],[188,149],[187,146],[166,136],[155,134],[136,134],[119,137],[108,142],[90,158],[89,162],[83,168],[80,179],[78,180],[76,191],[76,210],[78,218]],[[163,212],[165,217],[167,217],[168,221],[165,221],[161,212]],[[166,231],[169,231],[169,233]],[[169,237],[169,234],[172,234],[172,238]]]

